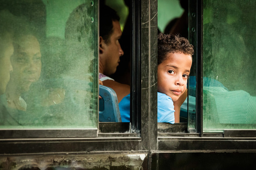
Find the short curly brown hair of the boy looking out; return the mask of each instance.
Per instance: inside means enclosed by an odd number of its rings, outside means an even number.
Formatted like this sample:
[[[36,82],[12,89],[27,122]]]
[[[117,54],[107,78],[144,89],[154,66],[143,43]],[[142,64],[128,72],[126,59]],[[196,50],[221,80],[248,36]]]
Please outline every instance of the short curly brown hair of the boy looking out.
[[[187,55],[194,54],[193,45],[189,43],[184,37],[180,37],[180,35],[173,35],[173,34],[158,34],[157,38],[158,48],[157,48],[157,65],[161,64],[163,60],[166,59],[166,55],[169,53],[184,53]]]

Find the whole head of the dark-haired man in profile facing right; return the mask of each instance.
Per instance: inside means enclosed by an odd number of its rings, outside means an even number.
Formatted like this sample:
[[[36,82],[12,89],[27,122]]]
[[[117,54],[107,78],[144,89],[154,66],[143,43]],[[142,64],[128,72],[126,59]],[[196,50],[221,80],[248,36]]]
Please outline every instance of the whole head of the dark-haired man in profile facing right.
[[[119,17],[112,8],[99,8],[99,69],[102,74],[111,75],[116,72],[119,57],[123,55],[119,44],[122,31]]]

